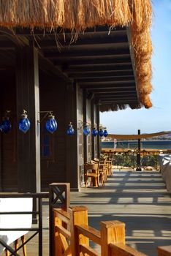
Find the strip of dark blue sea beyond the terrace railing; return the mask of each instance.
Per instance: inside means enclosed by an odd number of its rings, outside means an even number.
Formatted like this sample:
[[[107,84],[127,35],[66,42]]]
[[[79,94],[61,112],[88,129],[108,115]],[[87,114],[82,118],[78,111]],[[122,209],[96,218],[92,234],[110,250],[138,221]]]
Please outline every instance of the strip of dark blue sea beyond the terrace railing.
[[[141,140],[141,149],[171,149],[171,140]],[[138,148],[137,140],[102,141],[102,148]]]

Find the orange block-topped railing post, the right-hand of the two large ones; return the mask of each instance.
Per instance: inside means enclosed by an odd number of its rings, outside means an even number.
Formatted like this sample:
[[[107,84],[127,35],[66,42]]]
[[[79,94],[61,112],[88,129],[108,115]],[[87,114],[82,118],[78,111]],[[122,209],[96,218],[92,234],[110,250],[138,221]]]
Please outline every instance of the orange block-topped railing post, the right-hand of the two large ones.
[[[101,224],[101,244],[102,256],[110,255],[110,243],[125,244],[125,223],[117,220],[100,222]]]

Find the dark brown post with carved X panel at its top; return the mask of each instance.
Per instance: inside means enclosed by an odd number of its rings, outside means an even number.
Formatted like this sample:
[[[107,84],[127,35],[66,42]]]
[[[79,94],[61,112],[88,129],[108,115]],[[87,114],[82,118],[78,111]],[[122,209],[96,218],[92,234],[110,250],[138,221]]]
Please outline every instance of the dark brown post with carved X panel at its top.
[[[50,256],[55,256],[55,234],[54,229],[55,216],[53,214],[53,208],[62,208],[65,211],[70,205],[70,184],[69,183],[53,183],[49,185],[49,250]],[[57,238],[58,239],[58,238]]]

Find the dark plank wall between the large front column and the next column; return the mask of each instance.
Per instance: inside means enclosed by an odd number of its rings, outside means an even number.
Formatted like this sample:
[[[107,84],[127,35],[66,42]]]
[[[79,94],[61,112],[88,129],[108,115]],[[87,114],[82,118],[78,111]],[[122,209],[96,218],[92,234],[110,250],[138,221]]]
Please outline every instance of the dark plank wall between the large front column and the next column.
[[[47,190],[48,184],[52,182],[66,181],[66,84],[56,77],[45,75],[41,75],[39,83],[40,110],[53,110],[58,123],[57,131],[50,135],[53,140],[53,157],[41,158],[42,190]]]

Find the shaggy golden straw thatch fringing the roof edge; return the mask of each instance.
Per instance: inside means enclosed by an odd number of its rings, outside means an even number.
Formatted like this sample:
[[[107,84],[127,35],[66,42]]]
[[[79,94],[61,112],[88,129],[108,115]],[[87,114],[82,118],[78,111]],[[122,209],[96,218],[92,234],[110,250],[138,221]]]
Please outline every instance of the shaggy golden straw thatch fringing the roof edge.
[[[0,0],[0,26],[31,29],[60,26],[76,32],[97,25],[130,26],[140,99],[140,105],[132,108],[140,108],[141,104],[151,108],[152,105],[149,97],[151,13],[150,0]],[[124,107],[118,105],[118,108]]]

